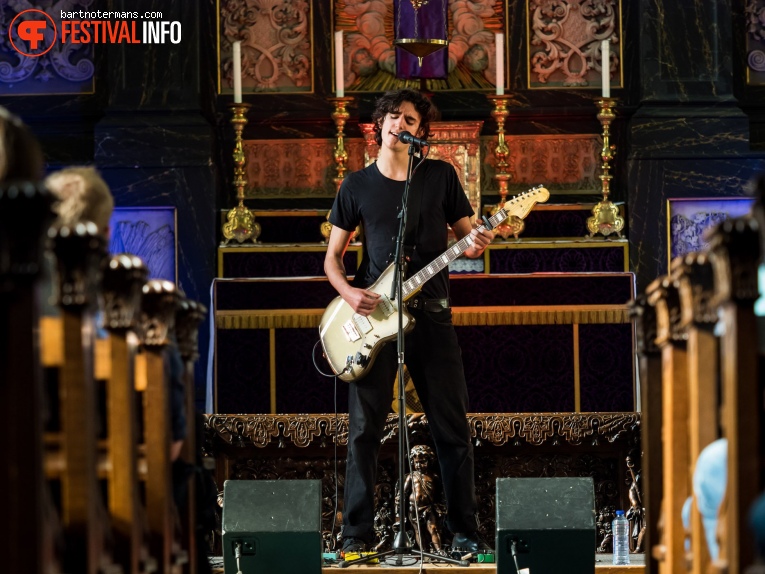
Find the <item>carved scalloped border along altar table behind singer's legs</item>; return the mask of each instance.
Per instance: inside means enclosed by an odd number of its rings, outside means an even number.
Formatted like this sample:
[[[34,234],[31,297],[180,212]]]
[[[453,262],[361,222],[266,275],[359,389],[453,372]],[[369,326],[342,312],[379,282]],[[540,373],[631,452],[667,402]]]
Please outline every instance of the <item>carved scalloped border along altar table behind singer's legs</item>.
[[[252,445],[260,448],[271,443],[289,443],[307,447],[333,439],[348,444],[348,415],[205,415],[207,432],[228,444]],[[468,414],[471,436],[482,442],[500,446],[511,441],[542,446],[555,441],[578,445],[587,440],[614,442],[623,434],[635,432],[640,413],[522,413]],[[383,442],[396,440],[398,415],[386,421]],[[415,430],[427,429],[427,417],[421,413],[407,415],[407,425]]]

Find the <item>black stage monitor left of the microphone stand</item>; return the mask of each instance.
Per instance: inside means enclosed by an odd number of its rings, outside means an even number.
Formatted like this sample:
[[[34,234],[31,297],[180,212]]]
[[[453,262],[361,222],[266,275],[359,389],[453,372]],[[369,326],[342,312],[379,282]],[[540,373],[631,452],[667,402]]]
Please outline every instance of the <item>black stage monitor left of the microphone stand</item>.
[[[227,480],[221,526],[225,574],[321,574],[319,480]]]

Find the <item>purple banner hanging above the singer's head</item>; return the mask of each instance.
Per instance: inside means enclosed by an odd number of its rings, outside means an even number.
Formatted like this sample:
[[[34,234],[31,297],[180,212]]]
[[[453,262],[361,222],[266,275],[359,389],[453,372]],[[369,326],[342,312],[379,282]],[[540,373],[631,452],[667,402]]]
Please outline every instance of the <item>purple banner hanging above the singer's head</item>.
[[[415,0],[416,1],[416,0]],[[416,10],[412,0],[394,0],[393,30],[396,40],[446,40],[446,4],[447,0],[428,0]],[[422,66],[417,56],[396,46],[396,77],[409,80],[413,78],[446,79],[448,47],[423,56]]]

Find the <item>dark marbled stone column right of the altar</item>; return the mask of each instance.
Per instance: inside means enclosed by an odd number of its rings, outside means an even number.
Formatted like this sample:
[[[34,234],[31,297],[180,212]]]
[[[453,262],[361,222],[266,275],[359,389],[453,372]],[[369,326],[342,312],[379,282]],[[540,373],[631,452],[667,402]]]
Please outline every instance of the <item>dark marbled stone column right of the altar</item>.
[[[623,156],[638,292],[668,269],[667,199],[744,195],[763,167],[733,94],[733,35],[745,30],[731,2],[640,0],[640,99]]]

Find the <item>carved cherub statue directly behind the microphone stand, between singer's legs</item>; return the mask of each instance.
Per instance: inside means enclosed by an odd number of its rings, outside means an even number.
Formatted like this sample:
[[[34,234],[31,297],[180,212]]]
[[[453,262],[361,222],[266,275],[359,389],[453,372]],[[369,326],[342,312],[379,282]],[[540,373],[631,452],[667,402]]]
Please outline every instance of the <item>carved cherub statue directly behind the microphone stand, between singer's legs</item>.
[[[432,470],[435,454],[426,445],[417,445],[409,453],[412,472],[404,480],[408,496],[407,518],[414,530],[417,546],[427,552],[430,547],[442,552],[440,524],[445,513],[437,474]],[[419,528],[418,528],[419,524]],[[427,544],[426,536],[430,537]]]

